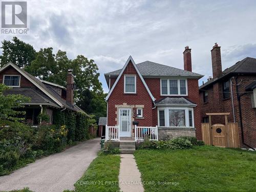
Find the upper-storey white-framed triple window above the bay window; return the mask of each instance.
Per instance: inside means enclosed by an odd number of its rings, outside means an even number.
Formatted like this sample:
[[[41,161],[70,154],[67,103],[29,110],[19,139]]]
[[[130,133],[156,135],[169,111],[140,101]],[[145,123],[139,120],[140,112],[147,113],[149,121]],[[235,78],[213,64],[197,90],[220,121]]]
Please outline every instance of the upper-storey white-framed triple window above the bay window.
[[[187,79],[161,79],[161,95],[187,95]]]

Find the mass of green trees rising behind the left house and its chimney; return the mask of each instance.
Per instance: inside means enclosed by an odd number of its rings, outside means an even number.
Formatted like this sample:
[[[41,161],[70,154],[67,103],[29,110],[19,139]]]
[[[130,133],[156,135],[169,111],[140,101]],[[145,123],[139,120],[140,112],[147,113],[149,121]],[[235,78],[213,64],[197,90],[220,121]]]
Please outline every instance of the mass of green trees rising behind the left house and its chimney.
[[[106,116],[105,94],[98,79],[98,66],[93,59],[83,55],[69,59],[65,51],[58,50],[54,54],[51,47],[35,52],[31,45],[17,37],[13,38],[13,42],[4,40],[1,48],[2,66],[11,61],[31,75],[64,87],[68,70],[72,70],[76,85],[75,103],[83,111],[95,115],[97,120],[100,116]]]

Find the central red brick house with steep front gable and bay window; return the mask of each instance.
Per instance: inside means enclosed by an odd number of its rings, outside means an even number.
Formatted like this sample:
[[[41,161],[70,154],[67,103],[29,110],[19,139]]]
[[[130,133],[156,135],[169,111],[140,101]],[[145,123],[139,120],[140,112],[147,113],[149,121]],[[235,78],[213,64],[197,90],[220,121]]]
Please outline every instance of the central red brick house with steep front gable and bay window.
[[[120,70],[106,73],[110,92],[107,125],[119,126],[120,137],[134,137],[138,126],[158,125],[159,139],[201,139],[198,79],[191,72],[191,49],[185,48],[184,69],[151,61],[135,64],[130,56]]]

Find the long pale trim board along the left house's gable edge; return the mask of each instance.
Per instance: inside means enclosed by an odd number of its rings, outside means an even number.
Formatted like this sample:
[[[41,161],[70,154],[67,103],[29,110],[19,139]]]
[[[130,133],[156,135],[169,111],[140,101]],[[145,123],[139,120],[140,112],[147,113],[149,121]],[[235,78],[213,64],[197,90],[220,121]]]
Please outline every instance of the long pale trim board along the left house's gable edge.
[[[5,65],[4,67],[0,68],[0,72],[2,72],[3,70],[5,70],[7,67],[12,66],[14,69],[16,69],[20,74],[22,74],[24,77],[26,77],[30,82],[32,82],[37,88],[39,88],[42,92],[44,92],[48,97],[50,97],[54,102],[56,102],[59,106],[61,106],[61,108],[63,107],[63,104],[61,102],[59,102],[55,97],[53,97],[52,95],[50,95],[44,88],[42,88],[41,86],[39,86],[39,84],[37,84],[33,79],[31,79],[28,75],[26,75],[22,69],[20,69],[19,67],[17,67],[16,65],[14,65],[12,62],[7,63],[7,65]]]

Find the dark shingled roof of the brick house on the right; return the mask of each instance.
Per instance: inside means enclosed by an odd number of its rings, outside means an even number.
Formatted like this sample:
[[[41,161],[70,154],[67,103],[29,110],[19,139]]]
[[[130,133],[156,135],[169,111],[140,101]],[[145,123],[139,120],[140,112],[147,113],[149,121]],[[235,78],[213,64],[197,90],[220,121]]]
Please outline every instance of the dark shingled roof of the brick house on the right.
[[[204,84],[202,84],[202,86],[199,87],[199,89],[203,89],[207,86],[209,86],[210,84],[214,83],[215,81],[220,80],[223,77],[227,77],[228,75],[231,74],[256,74],[256,58],[252,58],[252,57],[246,57],[241,61],[238,61],[236,64],[234,64],[233,66],[225,69],[220,76],[214,78],[214,79],[210,79],[207,82],[205,82]]]

